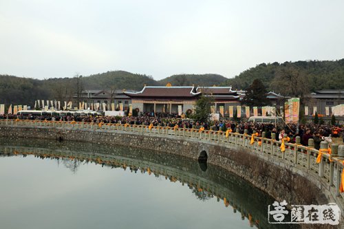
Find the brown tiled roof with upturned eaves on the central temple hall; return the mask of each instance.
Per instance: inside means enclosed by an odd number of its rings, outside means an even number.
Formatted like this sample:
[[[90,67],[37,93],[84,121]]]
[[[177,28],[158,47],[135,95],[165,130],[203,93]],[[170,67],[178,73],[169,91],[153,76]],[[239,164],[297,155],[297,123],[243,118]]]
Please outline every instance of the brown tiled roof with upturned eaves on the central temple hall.
[[[200,94],[195,87],[160,87],[160,86],[144,86],[141,91],[124,91],[124,94],[131,98],[138,97],[187,97],[193,98]]]

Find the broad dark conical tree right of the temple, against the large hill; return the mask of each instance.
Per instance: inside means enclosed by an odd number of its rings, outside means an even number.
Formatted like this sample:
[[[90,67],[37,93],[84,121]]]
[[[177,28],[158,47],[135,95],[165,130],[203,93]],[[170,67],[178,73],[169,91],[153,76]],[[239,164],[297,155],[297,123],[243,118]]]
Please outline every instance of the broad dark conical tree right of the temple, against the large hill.
[[[244,105],[248,105],[250,107],[269,105],[270,100],[266,98],[266,93],[266,87],[263,85],[261,80],[255,79],[253,80],[252,85],[246,89],[246,96],[243,98],[242,102]]]

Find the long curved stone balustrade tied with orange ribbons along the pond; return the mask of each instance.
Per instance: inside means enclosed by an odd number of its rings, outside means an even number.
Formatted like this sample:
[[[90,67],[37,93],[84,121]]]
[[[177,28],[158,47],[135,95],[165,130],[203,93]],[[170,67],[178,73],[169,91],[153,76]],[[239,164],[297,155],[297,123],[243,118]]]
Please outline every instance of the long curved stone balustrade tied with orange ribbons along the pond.
[[[0,120],[0,127],[30,127],[63,130],[83,130],[101,131],[109,133],[135,133],[149,136],[160,136],[164,138],[182,138],[183,140],[193,140],[205,144],[219,144],[227,148],[249,149],[260,158],[281,166],[288,165],[288,168],[311,182],[321,184],[319,188],[326,195],[327,199],[332,199],[338,204],[341,210],[344,209],[344,193],[339,192],[341,184],[341,174],[344,168],[344,145],[332,144],[331,152],[327,150],[327,142],[321,142],[321,151],[313,148],[312,140],[310,146],[301,144],[291,144],[285,142],[286,151],[281,152],[282,142],[260,138],[255,135],[228,133],[223,131],[200,131],[198,129],[185,129],[174,127],[149,127],[144,125],[130,124],[96,124],[89,122],[54,122],[37,120]],[[236,130],[238,131],[238,130]],[[273,136],[272,136],[273,137]],[[255,143],[250,144],[251,139]],[[299,139],[297,139],[299,142]],[[316,159],[321,152],[320,163]],[[316,179],[316,180],[315,180]]]

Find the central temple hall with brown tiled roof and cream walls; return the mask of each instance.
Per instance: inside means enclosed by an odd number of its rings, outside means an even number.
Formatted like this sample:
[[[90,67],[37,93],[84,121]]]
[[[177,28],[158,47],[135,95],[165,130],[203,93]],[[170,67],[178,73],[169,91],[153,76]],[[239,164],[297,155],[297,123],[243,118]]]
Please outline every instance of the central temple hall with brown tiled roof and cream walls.
[[[124,91],[124,94],[131,98],[133,109],[138,111],[178,113],[180,108],[182,113],[190,113],[201,92],[193,86],[167,84],[166,87],[145,85],[141,91]]]

